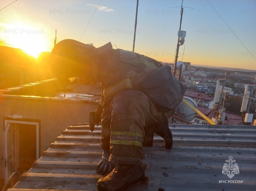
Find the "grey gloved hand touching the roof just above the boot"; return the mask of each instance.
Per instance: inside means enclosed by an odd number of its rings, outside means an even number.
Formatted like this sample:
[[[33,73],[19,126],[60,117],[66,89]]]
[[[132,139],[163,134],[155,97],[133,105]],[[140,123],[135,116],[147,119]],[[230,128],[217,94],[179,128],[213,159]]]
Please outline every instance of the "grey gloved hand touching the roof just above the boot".
[[[102,160],[98,163],[96,168],[98,174],[109,174],[114,169],[115,164],[108,161],[109,156],[110,151],[103,149]]]

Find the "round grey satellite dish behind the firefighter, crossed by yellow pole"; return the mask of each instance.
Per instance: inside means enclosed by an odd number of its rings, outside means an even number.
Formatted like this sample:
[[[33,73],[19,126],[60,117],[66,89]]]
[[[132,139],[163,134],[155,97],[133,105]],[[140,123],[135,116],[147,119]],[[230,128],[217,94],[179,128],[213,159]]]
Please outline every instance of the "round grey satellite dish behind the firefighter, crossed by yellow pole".
[[[189,104],[198,109],[196,101],[188,96],[184,96]],[[183,119],[184,121],[190,122],[196,117],[196,112],[193,111],[190,107],[188,107],[183,101],[176,107],[175,114],[177,117]]]

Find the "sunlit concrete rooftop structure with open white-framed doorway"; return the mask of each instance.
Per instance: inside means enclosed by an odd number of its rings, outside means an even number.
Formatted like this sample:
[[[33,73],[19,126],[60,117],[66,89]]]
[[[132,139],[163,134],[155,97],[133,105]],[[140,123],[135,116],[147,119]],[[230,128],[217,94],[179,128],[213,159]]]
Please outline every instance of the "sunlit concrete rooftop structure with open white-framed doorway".
[[[28,170],[63,127],[88,122],[100,93],[100,86],[64,87],[56,79],[0,90],[0,179]]]

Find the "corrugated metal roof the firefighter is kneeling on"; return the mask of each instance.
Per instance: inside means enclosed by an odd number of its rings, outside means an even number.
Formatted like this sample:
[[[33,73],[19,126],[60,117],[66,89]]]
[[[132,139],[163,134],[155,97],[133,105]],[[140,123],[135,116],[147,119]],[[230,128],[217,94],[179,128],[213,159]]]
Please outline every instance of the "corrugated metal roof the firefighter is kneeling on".
[[[142,149],[146,177],[127,191],[256,190],[255,126],[170,124],[170,129],[173,149],[155,136],[153,147]],[[88,125],[67,127],[9,191],[97,190],[100,136],[100,126],[93,133]],[[222,174],[229,156],[239,168],[232,178]]]

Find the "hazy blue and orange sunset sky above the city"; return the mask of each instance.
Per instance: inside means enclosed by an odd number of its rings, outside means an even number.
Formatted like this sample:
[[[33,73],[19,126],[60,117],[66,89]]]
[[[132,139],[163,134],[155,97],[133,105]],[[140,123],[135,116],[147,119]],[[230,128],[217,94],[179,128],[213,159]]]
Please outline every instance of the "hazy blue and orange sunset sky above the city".
[[[0,9],[13,1],[1,0]],[[181,2],[139,0],[135,52],[162,62],[174,61]],[[51,51],[57,29],[59,41],[74,39],[95,47],[112,42],[113,48],[132,51],[136,3],[16,0],[0,11],[0,45],[18,47],[33,55]],[[186,37],[178,60],[191,65],[256,70],[255,0],[184,0],[183,6],[181,30],[186,31]]]

